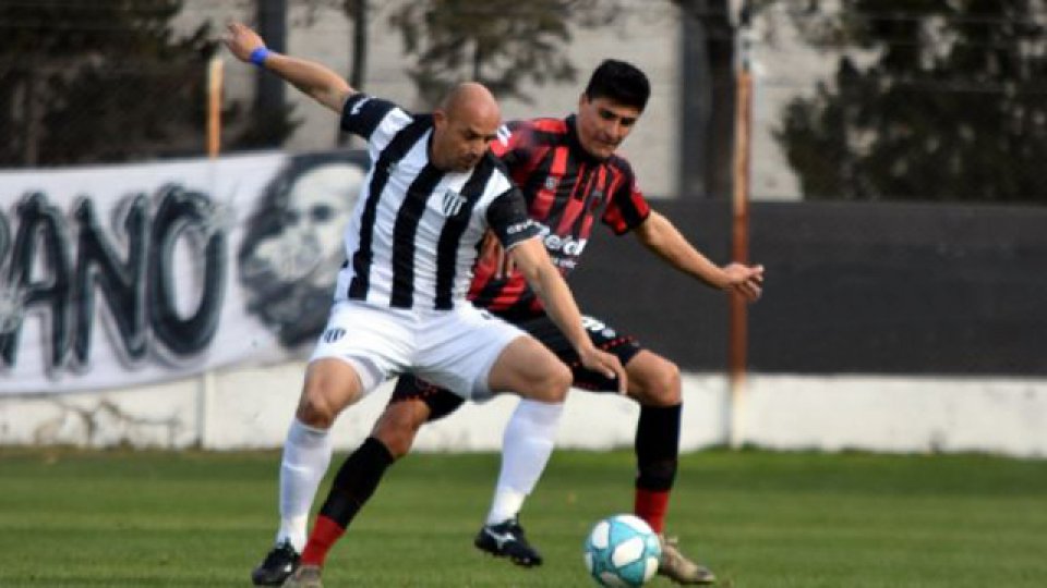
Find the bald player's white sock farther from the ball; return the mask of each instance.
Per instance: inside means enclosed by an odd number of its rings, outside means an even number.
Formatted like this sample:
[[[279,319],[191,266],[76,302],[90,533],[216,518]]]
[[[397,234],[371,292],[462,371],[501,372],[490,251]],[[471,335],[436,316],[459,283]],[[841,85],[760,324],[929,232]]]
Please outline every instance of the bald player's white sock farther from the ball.
[[[280,461],[280,530],[276,542],[290,540],[299,553],[305,549],[309,510],[330,464],[332,451],[327,429],[310,427],[297,418],[291,421]]]

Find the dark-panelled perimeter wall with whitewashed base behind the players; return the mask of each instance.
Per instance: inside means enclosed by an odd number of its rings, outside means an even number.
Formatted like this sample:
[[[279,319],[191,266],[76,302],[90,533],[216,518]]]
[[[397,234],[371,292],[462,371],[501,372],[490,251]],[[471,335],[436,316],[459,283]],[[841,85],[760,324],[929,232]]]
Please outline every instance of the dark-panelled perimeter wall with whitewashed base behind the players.
[[[711,258],[727,258],[726,204],[658,208]],[[685,449],[734,441],[1047,454],[1047,210],[755,203],[751,219],[751,257],[767,266],[768,281],[749,315],[751,373],[741,397],[720,376],[722,293],[605,231],[571,275],[588,313],[682,366]],[[282,363],[125,390],[4,395],[0,443],[277,446],[301,373],[300,364]],[[341,418],[340,448],[366,434],[386,396],[377,392]],[[428,428],[419,446],[495,449],[510,406],[469,407]],[[561,444],[629,445],[635,411],[624,400],[574,394]]]

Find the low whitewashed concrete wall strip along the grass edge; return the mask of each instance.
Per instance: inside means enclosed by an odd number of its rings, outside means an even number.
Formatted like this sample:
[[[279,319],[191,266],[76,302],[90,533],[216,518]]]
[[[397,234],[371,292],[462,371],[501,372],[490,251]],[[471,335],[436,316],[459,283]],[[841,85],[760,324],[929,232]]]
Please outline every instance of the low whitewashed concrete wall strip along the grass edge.
[[[0,397],[0,444],[234,450],[277,448],[303,366],[238,369],[101,393]],[[354,448],[387,384],[341,415],[334,442]],[[753,375],[735,397],[717,375],[684,377],[685,451],[727,443],[775,450],[989,452],[1047,456],[1047,380]],[[494,451],[513,397],[467,405],[426,426],[419,451]],[[574,391],[561,448],[631,446],[637,406]]]

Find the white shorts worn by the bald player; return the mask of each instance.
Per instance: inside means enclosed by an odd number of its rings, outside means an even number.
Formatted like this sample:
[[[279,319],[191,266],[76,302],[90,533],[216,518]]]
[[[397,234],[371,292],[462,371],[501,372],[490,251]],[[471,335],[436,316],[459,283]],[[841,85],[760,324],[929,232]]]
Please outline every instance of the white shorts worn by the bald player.
[[[520,329],[470,304],[453,310],[335,303],[310,362],[350,364],[368,394],[393,376],[411,372],[466,399],[491,397],[488,373]]]

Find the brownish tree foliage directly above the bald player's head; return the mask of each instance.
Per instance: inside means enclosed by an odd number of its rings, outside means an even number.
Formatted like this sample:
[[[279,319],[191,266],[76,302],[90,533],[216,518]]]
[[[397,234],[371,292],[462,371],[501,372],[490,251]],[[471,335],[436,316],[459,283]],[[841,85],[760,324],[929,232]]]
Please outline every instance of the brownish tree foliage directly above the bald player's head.
[[[616,0],[422,0],[390,16],[405,52],[414,56],[409,75],[432,106],[458,82],[485,84],[503,98],[531,101],[524,83],[570,82],[576,70],[559,49],[571,25],[612,23]]]

